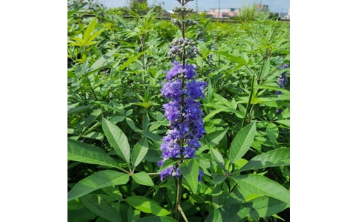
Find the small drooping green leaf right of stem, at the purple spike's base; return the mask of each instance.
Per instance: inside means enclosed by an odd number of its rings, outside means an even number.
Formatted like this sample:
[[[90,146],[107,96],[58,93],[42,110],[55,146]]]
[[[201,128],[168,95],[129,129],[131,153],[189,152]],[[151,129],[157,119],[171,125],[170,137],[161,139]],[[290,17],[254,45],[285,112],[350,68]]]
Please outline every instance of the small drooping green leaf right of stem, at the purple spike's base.
[[[199,164],[196,159],[185,159],[180,164],[180,173],[184,177],[185,181],[189,185],[191,192],[196,194],[198,190],[198,177],[199,177]]]

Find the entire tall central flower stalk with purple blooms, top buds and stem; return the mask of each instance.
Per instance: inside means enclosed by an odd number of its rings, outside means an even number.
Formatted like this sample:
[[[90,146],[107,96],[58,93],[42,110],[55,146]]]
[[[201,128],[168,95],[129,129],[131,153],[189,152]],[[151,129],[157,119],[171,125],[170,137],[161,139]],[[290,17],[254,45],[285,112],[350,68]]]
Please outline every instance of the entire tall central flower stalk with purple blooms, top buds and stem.
[[[182,174],[180,164],[187,158],[196,156],[196,150],[200,147],[199,140],[205,133],[202,121],[202,110],[200,98],[204,98],[203,90],[207,82],[196,81],[198,76],[196,66],[187,64],[187,59],[195,58],[198,54],[195,41],[186,38],[185,30],[196,22],[185,19],[191,14],[191,8],[185,8],[185,4],[193,0],[177,0],[181,7],[175,7],[173,11],[178,14],[180,19],[172,19],[171,22],[179,27],[182,36],[175,38],[171,42],[168,51],[169,58],[173,59],[173,67],[167,71],[167,81],[162,87],[162,96],[169,100],[163,104],[165,118],[169,120],[170,126],[167,134],[162,139],[160,150],[162,160],[158,166],[167,159],[178,159],[178,161],[160,172],[160,179],[165,177],[178,178],[178,191],[176,198],[176,219],[179,221],[180,214],[187,221],[184,212],[180,208],[182,191]],[[202,171],[199,172],[198,181],[202,178]],[[179,214],[180,212],[180,214]]]

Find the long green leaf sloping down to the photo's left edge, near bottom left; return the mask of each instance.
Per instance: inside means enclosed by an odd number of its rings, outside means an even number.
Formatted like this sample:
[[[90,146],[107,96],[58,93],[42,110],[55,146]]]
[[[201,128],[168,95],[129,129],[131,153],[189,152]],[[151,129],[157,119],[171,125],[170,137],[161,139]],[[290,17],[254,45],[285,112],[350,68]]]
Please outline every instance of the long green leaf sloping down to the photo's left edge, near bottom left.
[[[67,194],[67,201],[105,188],[107,186],[127,184],[129,175],[114,170],[102,170],[79,181]]]

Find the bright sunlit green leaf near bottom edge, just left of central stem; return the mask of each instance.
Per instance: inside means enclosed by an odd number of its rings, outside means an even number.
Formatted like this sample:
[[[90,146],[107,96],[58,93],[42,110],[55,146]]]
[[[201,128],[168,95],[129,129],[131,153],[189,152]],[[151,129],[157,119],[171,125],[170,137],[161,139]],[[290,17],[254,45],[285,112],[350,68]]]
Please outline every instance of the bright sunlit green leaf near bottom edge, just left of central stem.
[[[125,199],[127,203],[145,213],[154,214],[156,216],[165,216],[170,214],[168,210],[162,208],[156,201],[141,196],[131,196]]]

